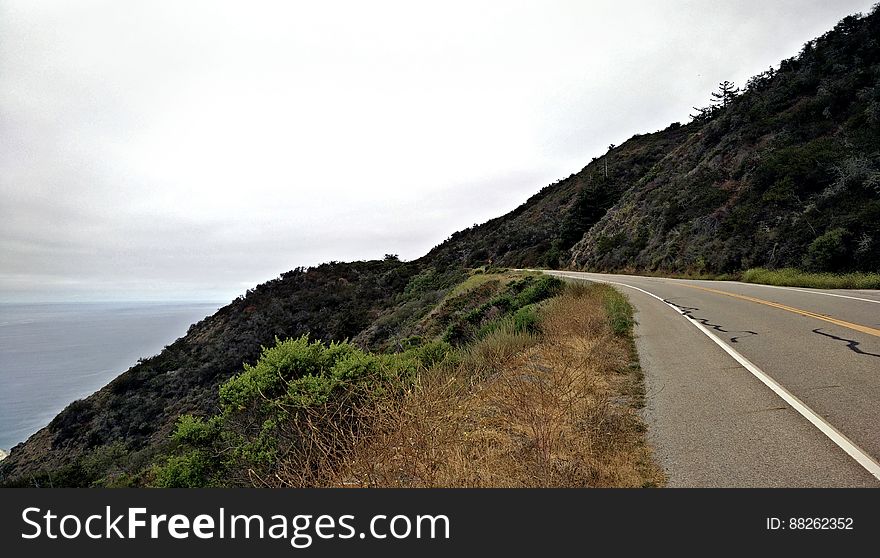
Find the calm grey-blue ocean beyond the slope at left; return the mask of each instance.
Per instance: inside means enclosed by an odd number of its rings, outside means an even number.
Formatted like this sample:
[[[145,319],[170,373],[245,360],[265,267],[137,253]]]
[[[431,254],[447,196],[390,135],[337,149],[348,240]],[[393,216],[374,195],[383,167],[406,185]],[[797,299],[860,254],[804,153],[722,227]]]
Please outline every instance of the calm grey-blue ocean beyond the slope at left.
[[[0,304],[0,449],[158,354],[219,303]]]

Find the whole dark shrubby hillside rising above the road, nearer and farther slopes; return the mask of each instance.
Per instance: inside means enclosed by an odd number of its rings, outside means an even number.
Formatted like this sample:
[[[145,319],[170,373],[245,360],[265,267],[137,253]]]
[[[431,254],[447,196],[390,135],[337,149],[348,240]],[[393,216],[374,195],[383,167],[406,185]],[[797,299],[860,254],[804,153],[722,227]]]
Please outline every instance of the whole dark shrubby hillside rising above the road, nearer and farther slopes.
[[[636,135],[426,257],[593,271],[875,271],[877,37],[876,9],[847,17],[708,117]]]

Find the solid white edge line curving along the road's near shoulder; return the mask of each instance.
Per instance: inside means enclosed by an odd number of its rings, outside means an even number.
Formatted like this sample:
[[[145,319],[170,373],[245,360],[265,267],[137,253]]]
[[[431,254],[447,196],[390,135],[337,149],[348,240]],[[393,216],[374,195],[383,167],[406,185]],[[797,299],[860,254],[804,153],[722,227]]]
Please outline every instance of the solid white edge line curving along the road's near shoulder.
[[[649,293],[644,289],[640,289],[639,287],[634,287],[632,285],[627,285],[626,283],[618,283],[616,281],[607,281],[602,279],[591,279],[587,277],[578,277],[574,275],[565,275],[563,273],[554,273],[553,275],[561,275],[562,277],[568,277],[569,279],[580,279],[581,281],[593,281],[597,283],[611,283],[613,285],[620,285],[622,287],[629,287],[630,289],[635,289],[639,292],[642,292],[650,297],[656,298],[669,308],[675,310],[681,316],[687,318],[687,315],[682,312],[680,309],[676,308],[672,304],[669,304],[659,296],[654,293]],[[839,295],[838,295],[839,296]],[[805,419],[810,421],[813,426],[819,429],[820,432],[825,434],[832,442],[837,444],[840,449],[845,451],[847,455],[856,460],[856,462],[861,465],[866,471],[871,473],[874,478],[880,480],[880,463],[874,460],[873,457],[868,455],[865,450],[857,446],[852,440],[847,438],[842,432],[834,428],[828,421],[819,416],[815,411],[810,409],[803,401],[798,399],[794,394],[790,391],[782,387],[779,383],[776,382],[773,378],[767,375],[766,372],[758,368],[756,365],[752,364],[749,359],[742,356],[739,352],[731,348],[727,343],[719,339],[715,334],[710,332],[706,327],[696,322],[692,319],[688,319],[688,322],[692,323],[697,329],[706,334],[709,339],[715,342],[719,347],[724,349],[724,352],[729,354],[735,361],[740,363],[743,368],[752,373],[753,376],[761,380],[761,382],[766,385],[768,388],[773,390],[773,392],[782,398],[783,401],[792,406],[794,410],[801,414]]]

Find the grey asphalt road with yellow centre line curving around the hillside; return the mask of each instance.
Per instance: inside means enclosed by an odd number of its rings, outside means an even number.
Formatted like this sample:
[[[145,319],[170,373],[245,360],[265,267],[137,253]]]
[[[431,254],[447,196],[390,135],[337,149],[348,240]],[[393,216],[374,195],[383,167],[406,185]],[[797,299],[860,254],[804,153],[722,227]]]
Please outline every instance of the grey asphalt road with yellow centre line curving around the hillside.
[[[670,486],[880,487],[880,291],[547,273],[636,308]]]

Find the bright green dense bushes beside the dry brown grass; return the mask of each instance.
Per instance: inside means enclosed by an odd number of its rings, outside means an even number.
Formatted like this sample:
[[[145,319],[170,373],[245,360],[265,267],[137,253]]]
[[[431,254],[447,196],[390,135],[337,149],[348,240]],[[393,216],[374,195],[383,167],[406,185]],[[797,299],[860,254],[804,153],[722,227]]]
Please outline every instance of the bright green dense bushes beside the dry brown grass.
[[[449,358],[452,349],[442,342],[381,355],[305,336],[278,341],[220,387],[219,414],[180,417],[172,435],[176,452],[154,468],[153,483],[250,483],[294,456],[316,468],[302,447],[301,423],[317,417],[332,423],[322,425],[328,434],[356,430],[363,405],[404,389],[419,370]]]

